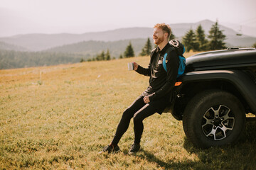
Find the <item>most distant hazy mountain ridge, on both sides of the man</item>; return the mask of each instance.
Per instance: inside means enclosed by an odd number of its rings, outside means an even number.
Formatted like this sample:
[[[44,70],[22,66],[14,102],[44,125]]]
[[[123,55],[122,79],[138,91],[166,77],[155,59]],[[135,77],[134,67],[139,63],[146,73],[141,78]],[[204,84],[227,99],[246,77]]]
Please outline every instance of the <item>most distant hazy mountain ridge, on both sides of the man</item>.
[[[177,23],[170,24],[174,35],[181,40],[189,29],[195,30],[199,24],[205,30],[206,35],[213,26],[214,22],[209,20],[200,21],[197,23]],[[256,42],[256,38],[248,35],[238,36],[235,30],[220,26],[220,30],[227,36],[225,42],[228,46],[233,47],[251,47]],[[90,40],[113,42],[119,40],[132,40],[137,38],[151,38],[153,28],[121,28],[117,30],[108,30],[97,33],[84,34],[27,34],[16,35],[12,37],[0,38],[0,41],[13,45],[25,47],[31,51],[46,50],[57,46],[68,45],[78,42]]]

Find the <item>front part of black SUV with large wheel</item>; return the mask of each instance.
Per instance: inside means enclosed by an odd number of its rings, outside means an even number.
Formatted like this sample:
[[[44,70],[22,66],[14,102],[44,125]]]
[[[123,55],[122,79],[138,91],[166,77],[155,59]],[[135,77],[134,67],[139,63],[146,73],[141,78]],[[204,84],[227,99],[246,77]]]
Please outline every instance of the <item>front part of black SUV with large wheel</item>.
[[[246,114],[256,114],[256,49],[228,48],[188,57],[165,112],[183,120],[188,140],[198,147],[237,142]]]

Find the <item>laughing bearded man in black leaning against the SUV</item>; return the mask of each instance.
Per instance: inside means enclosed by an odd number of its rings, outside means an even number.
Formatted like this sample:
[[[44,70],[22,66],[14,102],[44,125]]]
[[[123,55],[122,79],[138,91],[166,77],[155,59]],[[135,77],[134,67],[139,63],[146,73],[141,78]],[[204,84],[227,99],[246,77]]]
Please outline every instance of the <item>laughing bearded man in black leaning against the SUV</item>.
[[[168,42],[170,35],[171,28],[168,25],[165,23],[156,24],[153,40],[157,47],[151,52],[149,67],[143,68],[133,62],[136,72],[150,77],[149,87],[124,111],[114,139],[110,145],[104,147],[102,152],[119,152],[120,149],[117,144],[124,132],[127,131],[132,118],[134,121],[134,143],[129,149],[129,154],[138,152],[144,128],[142,121],[154,113],[161,114],[164,108],[168,106],[171,89],[174,88],[178,74],[178,55],[174,47],[171,47]],[[163,67],[163,58],[166,53],[167,72]]]

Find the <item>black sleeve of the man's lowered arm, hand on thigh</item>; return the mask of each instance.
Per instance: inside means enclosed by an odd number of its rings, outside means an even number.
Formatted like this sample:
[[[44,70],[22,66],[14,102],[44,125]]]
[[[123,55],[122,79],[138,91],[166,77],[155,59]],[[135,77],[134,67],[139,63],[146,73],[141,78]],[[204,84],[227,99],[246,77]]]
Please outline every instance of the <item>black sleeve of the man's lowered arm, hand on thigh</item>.
[[[168,60],[167,60],[168,59]],[[174,88],[174,84],[176,82],[176,78],[178,75],[178,55],[175,50],[169,52],[168,56],[166,57],[167,63],[167,77],[166,77],[166,84],[161,87],[158,91],[154,94],[149,96],[149,101],[154,101],[157,98],[161,98],[164,95],[168,94],[171,89]]]

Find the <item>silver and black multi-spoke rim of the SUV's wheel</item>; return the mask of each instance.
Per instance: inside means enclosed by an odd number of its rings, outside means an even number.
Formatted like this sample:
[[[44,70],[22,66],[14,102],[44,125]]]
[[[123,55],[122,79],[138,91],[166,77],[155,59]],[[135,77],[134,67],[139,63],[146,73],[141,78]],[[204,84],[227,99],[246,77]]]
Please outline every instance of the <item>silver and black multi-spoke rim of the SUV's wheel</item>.
[[[235,125],[235,115],[224,105],[213,106],[203,115],[202,130],[210,140],[223,140],[230,135]]]

